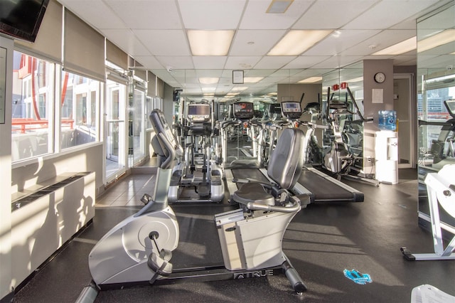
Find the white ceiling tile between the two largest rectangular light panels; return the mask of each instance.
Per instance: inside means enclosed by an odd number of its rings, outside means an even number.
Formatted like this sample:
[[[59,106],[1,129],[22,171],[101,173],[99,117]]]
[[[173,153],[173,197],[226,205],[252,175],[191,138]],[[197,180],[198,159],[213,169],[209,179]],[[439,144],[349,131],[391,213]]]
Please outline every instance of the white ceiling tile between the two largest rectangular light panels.
[[[284,30],[240,30],[235,33],[230,55],[265,55],[286,33]]]

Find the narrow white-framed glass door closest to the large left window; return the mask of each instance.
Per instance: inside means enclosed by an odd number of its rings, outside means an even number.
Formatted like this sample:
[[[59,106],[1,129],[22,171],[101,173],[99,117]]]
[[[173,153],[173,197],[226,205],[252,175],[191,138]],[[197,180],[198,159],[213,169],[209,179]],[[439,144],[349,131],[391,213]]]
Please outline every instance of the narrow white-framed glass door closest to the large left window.
[[[125,103],[126,85],[107,80],[107,99],[105,105],[105,161],[107,181],[116,178],[125,169]]]

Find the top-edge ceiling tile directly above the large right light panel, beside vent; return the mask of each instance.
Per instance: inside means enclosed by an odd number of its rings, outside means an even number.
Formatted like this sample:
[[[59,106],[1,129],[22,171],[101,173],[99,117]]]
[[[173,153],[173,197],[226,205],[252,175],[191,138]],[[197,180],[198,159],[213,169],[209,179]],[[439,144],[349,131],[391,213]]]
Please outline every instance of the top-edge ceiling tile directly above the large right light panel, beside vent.
[[[316,1],[292,28],[324,29],[341,28],[346,23],[362,14],[378,0],[330,0]],[[343,14],[348,11],[349,14]]]

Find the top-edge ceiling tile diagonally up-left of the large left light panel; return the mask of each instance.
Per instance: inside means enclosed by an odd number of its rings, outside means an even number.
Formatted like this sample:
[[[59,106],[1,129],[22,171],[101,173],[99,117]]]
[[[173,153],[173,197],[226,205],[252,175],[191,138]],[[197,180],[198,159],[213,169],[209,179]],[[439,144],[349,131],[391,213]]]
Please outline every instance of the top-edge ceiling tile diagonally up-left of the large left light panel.
[[[122,17],[128,28],[178,29],[182,28],[174,1],[105,0],[112,10]],[[87,7],[91,7],[91,4]]]

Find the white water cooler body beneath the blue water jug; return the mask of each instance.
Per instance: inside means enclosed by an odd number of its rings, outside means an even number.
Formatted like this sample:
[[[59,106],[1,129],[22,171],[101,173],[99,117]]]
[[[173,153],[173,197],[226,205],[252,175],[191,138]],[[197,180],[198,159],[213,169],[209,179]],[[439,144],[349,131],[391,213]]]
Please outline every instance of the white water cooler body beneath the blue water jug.
[[[381,130],[375,133],[376,179],[385,184],[398,183],[397,132]]]

